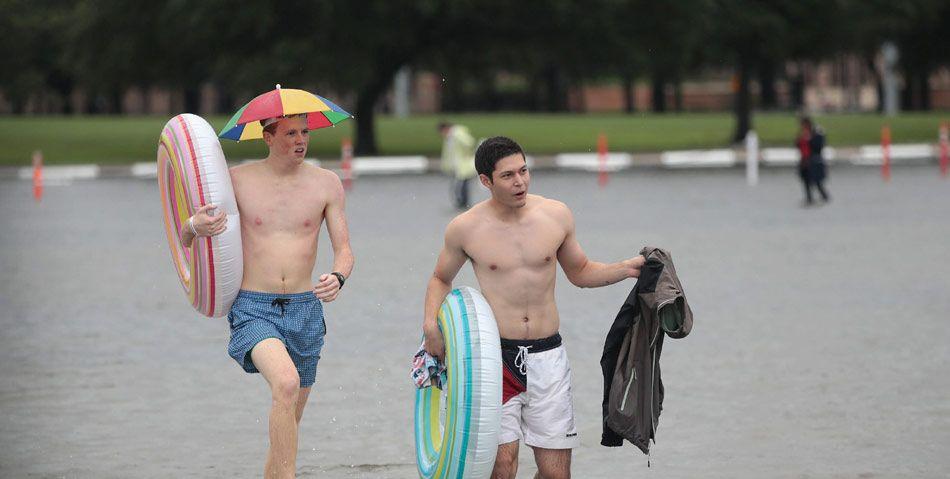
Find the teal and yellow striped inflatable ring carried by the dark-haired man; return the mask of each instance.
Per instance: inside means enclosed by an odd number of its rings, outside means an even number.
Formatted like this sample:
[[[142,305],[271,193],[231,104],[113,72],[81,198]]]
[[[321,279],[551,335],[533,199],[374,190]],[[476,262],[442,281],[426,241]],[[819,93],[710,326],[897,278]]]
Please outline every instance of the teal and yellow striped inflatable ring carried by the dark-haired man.
[[[462,287],[439,309],[448,385],[416,391],[419,477],[487,478],[501,429],[501,340],[488,302]]]

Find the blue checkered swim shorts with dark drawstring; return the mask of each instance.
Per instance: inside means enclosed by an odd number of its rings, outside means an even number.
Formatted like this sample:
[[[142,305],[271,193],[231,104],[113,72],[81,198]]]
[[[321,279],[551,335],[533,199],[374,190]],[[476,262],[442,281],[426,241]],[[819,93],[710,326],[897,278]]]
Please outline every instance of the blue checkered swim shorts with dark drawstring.
[[[290,359],[297,366],[300,387],[313,385],[327,323],[323,319],[323,304],[312,292],[275,294],[241,290],[228,313],[228,322],[228,354],[245,371],[258,372],[251,361],[251,349],[267,338],[277,338],[287,346]]]

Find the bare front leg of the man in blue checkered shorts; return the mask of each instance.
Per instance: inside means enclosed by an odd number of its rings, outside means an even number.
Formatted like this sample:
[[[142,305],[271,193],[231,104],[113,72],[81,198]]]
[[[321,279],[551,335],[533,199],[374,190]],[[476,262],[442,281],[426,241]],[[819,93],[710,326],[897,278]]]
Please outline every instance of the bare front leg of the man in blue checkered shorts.
[[[273,403],[270,411],[270,448],[267,450],[267,478],[292,478],[297,461],[297,417],[300,376],[287,354],[284,343],[267,338],[251,350],[251,360],[270,385]]]

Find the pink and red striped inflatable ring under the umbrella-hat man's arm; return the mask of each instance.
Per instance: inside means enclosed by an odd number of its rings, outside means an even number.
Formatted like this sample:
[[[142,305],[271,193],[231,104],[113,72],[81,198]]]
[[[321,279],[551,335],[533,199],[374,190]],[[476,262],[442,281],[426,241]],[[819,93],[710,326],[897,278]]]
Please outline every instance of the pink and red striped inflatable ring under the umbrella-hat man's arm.
[[[178,115],[162,129],[158,190],[172,263],[188,301],[205,316],[224,316],[244,274],[241,219],[221,144],[200,116]],[[182,225],[209,203],[217,206],[217,214],[228,215],[227,229],[214,237],[195,238],[191,248],[183,247]]]

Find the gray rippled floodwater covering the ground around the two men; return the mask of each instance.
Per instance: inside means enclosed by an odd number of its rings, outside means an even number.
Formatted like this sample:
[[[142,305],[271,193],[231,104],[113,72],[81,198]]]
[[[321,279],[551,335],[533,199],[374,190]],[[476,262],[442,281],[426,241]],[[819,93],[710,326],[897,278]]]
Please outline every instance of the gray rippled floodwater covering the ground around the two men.
[[[595,260],[672,251],[695,314],[663,348],[657,443],[600,446],[604,337],[632,281],[559,273],[581,447],[574,477],[946,477],[950,181],[906,167],[831,172],[802,208],[791,170],[538,172]],[[480,197],[484,193],[473,188]],[[172,268],[154,181],[0,180],[0,476],[256,477],[270,397],[227,355]],[[360,179],[356,270],[300,431],[300,477],[416,477],[408,362],[442,243],[448,180]],[[331,264],[322,232],[317,272]],[[466,266],[457,285],[476,286]],[[522,448],[520,477],[531,477]]]

